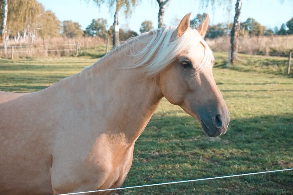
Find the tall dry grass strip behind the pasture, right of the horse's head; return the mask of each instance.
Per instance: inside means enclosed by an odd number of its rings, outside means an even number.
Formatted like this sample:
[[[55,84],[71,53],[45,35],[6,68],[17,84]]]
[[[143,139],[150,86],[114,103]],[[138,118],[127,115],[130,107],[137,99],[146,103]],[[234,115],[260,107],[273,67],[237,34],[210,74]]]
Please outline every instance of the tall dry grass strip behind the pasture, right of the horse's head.
[[[208,45],[213,51],[228,51],[230,37],[207,39]],[[288,54],[293,49],[293,35],[239,37],[240,53],[280,53]]]

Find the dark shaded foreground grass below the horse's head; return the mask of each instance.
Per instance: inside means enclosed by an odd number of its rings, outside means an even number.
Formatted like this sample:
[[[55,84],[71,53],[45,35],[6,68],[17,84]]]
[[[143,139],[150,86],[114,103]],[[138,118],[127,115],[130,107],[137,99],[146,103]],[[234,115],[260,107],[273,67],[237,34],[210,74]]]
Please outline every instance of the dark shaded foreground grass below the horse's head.
[[[133,165],[123,186],[293,167],[293,114],[232,117],[227,133],[212,139],[203,134],[192,117],[162,114],[154,114],[137,140]],[[288,171],[131,193],[176,194],[183,190],[181,194],[288,194],[293,191],[292,177],[293,172]]]

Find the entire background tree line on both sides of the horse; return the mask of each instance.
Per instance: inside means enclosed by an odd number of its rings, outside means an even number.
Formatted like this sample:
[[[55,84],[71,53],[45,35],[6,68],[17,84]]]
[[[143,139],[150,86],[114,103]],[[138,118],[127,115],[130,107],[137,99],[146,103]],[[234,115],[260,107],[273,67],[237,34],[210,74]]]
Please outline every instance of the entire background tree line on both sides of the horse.
[[[163,25],[163,16],[165,12],[166,3],[169,0],[157,0],[160,10],[158,20],[160,26]],[[125,10],[125,15],[129,16],[133,7],[137,4],[135,0],[94,0],[97,5],[107,3],[111,8],[115,8],[119,13],[121,9]],[[8,9],[7,9],[8,4]],[[6,6],[6,7],[5,7]],[[116,6],[116,7],[115,7]],[[6,9],[6,15],[5,15]],[[138,33],[129,29],[119,29],[117,25],[118,16],[114,17],[114,23],[107,29],[107,20],[103,18],[92,19],[91,23],[85,30],[81,29],[81,25],[71,20],[59,21],[51,10],[44,9],[44,6],[37,0],[0,0],[0,21],[2,22],[0,35],[1,37],[14,38],[19,41],[20,38],[27,39],[29,37],[81,37],[92,36],[100,37],[103,39],[113,39],[113,43],[118,44],[121,41],[127,40],[129,37],[137,36]],[[119,14],[118,14],[119,15]],[[205,18],[206,13],[197,14],[197,16],[190,21],[192,27],[197,27]],[[6,17],[6,20],[5,20]],[[5,25],[3,24],[5,21]],[[3,27],[4,25],[4,27]],[[115,27],[116,25],[116,27]],[[230,36],[233,23],[219,23],[210,25],[206,34],[207,38],[216,38],[221,36]],[[149,20],[143,21],[139,29],[140,33],[145,33],[154,28]],[[118,35],[113,37],[118,30]],[[262,26],[253,18],[248,18],[245,22],[240,23],[239,36],[261,36],[261,35],[286,35],[293,34],[293,18],[286,23],[283,23],[279,28],[275,27],[274,30]],[[119,40],[117,40],[117,38]]]

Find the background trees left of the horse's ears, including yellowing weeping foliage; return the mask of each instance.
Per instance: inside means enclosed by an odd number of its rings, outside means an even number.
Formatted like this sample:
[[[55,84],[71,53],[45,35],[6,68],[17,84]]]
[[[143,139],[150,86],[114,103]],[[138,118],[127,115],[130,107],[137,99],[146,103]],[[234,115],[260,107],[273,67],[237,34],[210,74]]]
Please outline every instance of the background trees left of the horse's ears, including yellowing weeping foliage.
[[[0,10],[3,10],[5,0],[0,0]],[[107,20],[103,18],[92,19],[92,22],[85,30],[81,25],[71,20],[61,22],[51,10],[44,9],[44,6],[36,0],[9,0],[8,17],[5,27],[5,36],[15,41],[20,39],[36,37],[82,37],[98,36],[103,39],[112,38],[111,26],[107,29]],[[0,14],[0,21],[3,21],[3,14]],[[142,23],[140,32],[147,32],[153,28],[151,21]],[[120,39],[127,40],[138,33],[133,30],[119,29]]]

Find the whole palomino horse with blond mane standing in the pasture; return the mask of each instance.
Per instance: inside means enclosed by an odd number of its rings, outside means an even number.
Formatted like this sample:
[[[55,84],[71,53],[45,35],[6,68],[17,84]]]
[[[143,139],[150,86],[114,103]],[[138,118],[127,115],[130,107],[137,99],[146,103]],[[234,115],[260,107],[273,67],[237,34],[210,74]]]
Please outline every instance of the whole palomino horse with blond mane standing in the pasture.
[[[229,111],[203,39],[208,15],[198,30],[189,18],[132,38],[44,90],[0,92],[0,194],[120,187],[135,141],[164,96],[209,137],[225,133]]]

